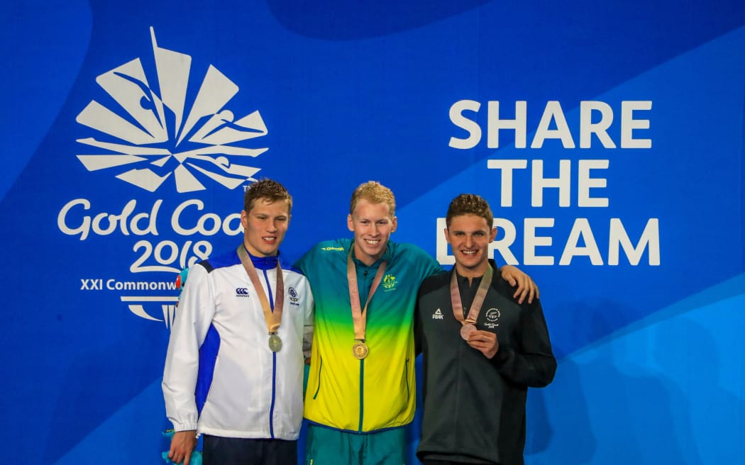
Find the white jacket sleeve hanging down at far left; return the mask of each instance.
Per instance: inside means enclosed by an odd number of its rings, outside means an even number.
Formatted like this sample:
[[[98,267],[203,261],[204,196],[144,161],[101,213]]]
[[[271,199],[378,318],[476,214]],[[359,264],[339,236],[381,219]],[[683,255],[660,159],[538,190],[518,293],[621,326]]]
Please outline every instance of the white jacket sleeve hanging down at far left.
[[[215,289],[203,266],[195,265],[184,286],[176,318],[171,326],[163,370],[165,414],[175,431],[197,429],[197,385],[199,348],[215,315]]]

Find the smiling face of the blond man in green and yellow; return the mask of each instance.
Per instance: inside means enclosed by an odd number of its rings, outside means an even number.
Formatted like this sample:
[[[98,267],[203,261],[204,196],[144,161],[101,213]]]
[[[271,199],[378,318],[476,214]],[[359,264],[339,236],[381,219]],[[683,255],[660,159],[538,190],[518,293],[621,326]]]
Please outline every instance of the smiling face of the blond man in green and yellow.
[[[355,258],[372,265],[385,253],[390,233],[396,231],[396,217],[386,203],[361,199],[346,219],[349,231],[355,233]]]

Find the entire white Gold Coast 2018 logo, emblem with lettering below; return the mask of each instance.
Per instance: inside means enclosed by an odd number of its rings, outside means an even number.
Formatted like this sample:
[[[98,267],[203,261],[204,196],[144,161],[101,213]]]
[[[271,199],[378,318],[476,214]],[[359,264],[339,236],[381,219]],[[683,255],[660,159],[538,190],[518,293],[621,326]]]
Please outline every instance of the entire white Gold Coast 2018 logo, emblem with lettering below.
[[[215,234],[241,234],[240,214],[204,211],[208,204],[203,199],[178,199],[175,205],[174,196],[256,181],[260,169],[249,160],[268,150],[261,147],[267,127],[258,110],[236,115],[229,108],[238,86],[218,68],[209,65],[196,78],[197,86],[191,56],[159,47],[153,28],[150,38],[154,68],[136,58],[96,77],[106,94],[75,118],[88,132],[77,138],[77,147],[86,147],[77,159],[90,172],[111,174],[149,192],[162,187],[166,193],[151,201],[72,199],[60,208],[57,227],[81,241],[136,237],[128,273],[88,269],[89,275],[80,277],[80,292],[116,293],[134,315],[170,327],[176,275],[212,254],[209,239]],[[110,260],[127,254],[121,244],[110,249],[116,250]]]

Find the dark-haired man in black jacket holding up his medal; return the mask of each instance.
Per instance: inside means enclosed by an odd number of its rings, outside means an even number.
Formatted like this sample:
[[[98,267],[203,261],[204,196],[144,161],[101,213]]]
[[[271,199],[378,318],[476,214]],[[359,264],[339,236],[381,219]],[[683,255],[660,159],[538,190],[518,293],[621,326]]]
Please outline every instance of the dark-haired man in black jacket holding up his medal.
[[[484,199],[458,196],[447,225],[454,269],[425,280],[417,302],[425,379],[416,455],[425,465],[523,464],[527,388],[548,385],[557,367],[541,304],[537,298],[520,304],[487,260],[495,230]],[[491,282],[473,318],[485,275]],[[459,306],[457,318],[453,307]],[[475,330],[466,328],[469,316]]]

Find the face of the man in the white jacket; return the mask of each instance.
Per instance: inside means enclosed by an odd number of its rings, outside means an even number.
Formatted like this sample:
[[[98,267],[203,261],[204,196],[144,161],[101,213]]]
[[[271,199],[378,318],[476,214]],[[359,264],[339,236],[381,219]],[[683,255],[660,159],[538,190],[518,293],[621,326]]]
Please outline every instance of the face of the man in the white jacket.
[[[290,205],[285,200],[260,197],[249,211],[241,211],[243,243],[255,257],[276,255],[290,224]]]

